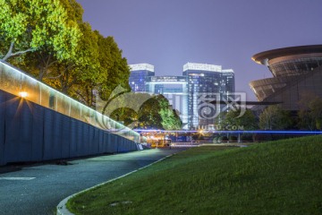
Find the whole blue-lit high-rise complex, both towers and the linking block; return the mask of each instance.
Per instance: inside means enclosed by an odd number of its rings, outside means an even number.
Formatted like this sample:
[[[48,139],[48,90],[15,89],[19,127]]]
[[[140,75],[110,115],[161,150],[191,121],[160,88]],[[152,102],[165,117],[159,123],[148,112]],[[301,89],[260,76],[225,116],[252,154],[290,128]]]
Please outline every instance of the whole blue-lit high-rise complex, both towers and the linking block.
[[[183,129],[214,125],[221,106],[210,102],[234,92],[233,70],[224,70],[221,65],[184,64],[182,76],[155,76],[150,64],[130,66],[132,91],[164,95],[179,111]]]

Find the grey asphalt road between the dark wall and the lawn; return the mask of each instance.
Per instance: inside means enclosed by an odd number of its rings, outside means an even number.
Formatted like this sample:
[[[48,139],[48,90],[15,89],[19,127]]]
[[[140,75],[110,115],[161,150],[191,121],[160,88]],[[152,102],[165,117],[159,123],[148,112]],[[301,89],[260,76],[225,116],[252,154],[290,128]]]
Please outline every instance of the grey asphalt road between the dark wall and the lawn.
[[[0,174],[0,214],[55,214],[65,197],[123,176],[183,149],[141,150],[47,164]],[[1,171],[0,171],[1,172]]]

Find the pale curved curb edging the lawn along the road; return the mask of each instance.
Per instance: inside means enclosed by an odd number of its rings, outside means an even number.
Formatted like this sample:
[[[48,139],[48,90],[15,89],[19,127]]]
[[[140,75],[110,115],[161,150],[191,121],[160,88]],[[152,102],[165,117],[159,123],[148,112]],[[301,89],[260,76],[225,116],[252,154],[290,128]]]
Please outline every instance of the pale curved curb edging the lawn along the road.
[[[169,157],[171,157],[171,156],[174,156],[175,154],[176,154],[176,153],[171,154],[171,155],[167,155],[167,156],[165,156],[165,158],[158,159],[157,161],[154,161],[153,163],[150,163],[150,164],[148,164],[147,166],[145,166],[145,167],[143,167],[143,168],[148,168],[149,166],[152,166],[153,164],[156,164],[157,162],[160,162],[160,161],[162,161],[162,160],[164,160],[164,159],[167,159],[167,158],[169,158]],[[89,187],[89,188],[87,188],[87,189],[85,189],[85,190],[82,190],[82,191],[80,191],[80,192],[78,192],[78,193],[73,193],[72,195],[70,195],[70,196],[68,196],[68,197],[64,198],[64,200],[63,200],[62,202],[59,202],[59,204],[58,204],[58,205],[57,205],[57,207],[56,207],[56,214],[57,214],[57,215],[74,215],[74,214],[73,214],[71,211],[69,211],[69,210],[67,209],[67,207],[66,207],[66,203],[67,203],[70,199],[72,199],[72,197],[74,197],[74,196],[76,196],[76,195],[78,195],[78,194],[80,194],[80,193],[84,193],[84,192],[87,192],[87,191],[89,191],[89,190],[91,190],[91,189],[94,189],[94,188],[96,188],[97,186],[100,186],[100,185],[106,185],[106,184],[108,184],[108,183],[110,183],[110,182],[113,182],[113,181],[115,181],[115,180],[117,180],[117,179],[120,179],[120,178],[122,178],[122,177],[124,177],[124,176],[129,176],[129,175],[131,175],[132,173],[135,173],[135,172],[137,172],[137,171],[139,171],[140,169],[143,169],[143,168],[138,168],[138,169],[136,169],[136,170],[133,170],[133,171],[131,171],[131,172],[129,172],[129,173],[127,173],[127,174],[123,175],[123,176],[115,177],[115,178],[113,178],[113,179],[111,179],[111,180],[108,180],[108,181],[103,182],[103,183],[98,184],[98,185],[94,185],[94,186]]]

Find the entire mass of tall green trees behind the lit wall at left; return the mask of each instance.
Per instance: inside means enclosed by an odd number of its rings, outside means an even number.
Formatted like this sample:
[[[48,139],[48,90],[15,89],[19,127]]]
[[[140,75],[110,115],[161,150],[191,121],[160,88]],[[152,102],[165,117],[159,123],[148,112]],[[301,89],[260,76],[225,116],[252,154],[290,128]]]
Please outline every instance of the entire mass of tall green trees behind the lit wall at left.
[[[75,0],[0,0],[0,57],[88,105],[130,90],[130,69],[112,37],[82,21]]]

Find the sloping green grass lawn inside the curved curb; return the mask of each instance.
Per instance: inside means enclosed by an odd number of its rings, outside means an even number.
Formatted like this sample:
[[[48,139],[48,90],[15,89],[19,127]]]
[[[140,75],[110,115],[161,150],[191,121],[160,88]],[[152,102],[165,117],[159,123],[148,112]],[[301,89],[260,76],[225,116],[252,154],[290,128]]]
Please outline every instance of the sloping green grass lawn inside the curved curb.
[[[322,214],[322,136],[191,148],[72,198],[75,214]]]

